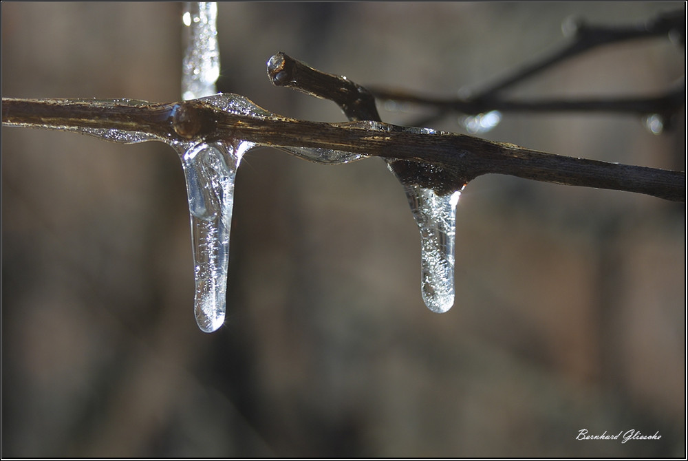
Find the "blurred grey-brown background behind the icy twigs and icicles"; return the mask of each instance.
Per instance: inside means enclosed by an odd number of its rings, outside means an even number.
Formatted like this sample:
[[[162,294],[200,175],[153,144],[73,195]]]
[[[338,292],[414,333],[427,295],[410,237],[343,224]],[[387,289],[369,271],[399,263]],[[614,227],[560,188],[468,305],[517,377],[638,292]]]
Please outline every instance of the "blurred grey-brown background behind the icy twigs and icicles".
[[[180,99],[181,3],[2,3],[4,97]],[[283,51],[363,85],[451,98],[566,43],[685,3],[221,3],[219,89],[343,121],[272,87]],[[667,39],[610,45],[519,98],[649,95]],[[416,118],[413,107],[384,121]],[[456,117],[433,125],[462,132]],[[485,138],[685,171],[685,114],[504,114]],[[685,204],[477,178],[458,204],[456,301],[420,297],[420,237],[380,159],[250,152],[228,316],[193,318],[180,160],[2,128],[3,457],[685,457]],[[660,440],[575,440],[635,429]]]

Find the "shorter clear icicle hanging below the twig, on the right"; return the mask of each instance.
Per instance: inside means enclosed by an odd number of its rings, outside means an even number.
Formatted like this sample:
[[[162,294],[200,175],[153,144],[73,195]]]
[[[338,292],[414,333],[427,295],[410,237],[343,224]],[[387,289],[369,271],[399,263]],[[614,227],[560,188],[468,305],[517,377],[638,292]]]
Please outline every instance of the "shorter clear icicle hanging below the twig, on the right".
[[[404,189],[420,228],[423,301],[433,312],[447,312],[454,303],[456,204],[461,192],[438,195],[418,185]]]

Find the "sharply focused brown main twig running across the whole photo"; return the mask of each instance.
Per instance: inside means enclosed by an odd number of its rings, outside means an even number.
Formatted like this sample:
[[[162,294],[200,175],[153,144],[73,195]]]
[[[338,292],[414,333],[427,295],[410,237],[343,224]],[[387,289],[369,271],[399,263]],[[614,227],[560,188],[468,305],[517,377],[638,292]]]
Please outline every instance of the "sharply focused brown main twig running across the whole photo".
[[[178,110],[173,111],[175,106]],[[184,110],[180,110],[180,108]],[[186,114],[188,129],[179,130],[173,114]],[[515,144],[491,142],[456,133],[420,134],[395,131],[394,125],[367,122],[325,123],[281,116],[257,118],[220,111],[202,100],[151,105],[92,107],[60,100],[3,98],[3,125],[54,129],[135,129],[160,140],[199,142],[241,139],[272,147],[314,147],[399,160],[415,160],[444,169],[429,184],[438,191],[461,189],[479,175],[498,173],[571,186],[616,189],[685,202],[685,173],[557,156]],[[178,131],[175,131],[175,127]],[[389,131],[387,131],[389,130]]]

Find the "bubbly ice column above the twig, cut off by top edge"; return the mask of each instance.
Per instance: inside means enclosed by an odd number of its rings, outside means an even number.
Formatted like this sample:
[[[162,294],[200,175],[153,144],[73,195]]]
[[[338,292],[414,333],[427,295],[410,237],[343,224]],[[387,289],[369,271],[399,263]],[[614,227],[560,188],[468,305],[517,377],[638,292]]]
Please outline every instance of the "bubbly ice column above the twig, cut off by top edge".
[[[217,3],[184,3],[182,21],[188,31],[182,63],[182,98],[215,94],[215,82],[219,77]]]

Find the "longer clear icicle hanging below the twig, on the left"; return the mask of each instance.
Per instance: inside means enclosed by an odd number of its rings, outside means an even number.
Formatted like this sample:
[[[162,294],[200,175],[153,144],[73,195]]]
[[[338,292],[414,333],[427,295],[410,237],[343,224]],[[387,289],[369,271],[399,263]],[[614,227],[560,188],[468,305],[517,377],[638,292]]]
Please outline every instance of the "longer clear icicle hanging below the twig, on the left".
[[[254,145],[234,141],[175,146],[189,195],[194,312],[204,332],[213,332],[224,323],[235,178],[241,158]]]

